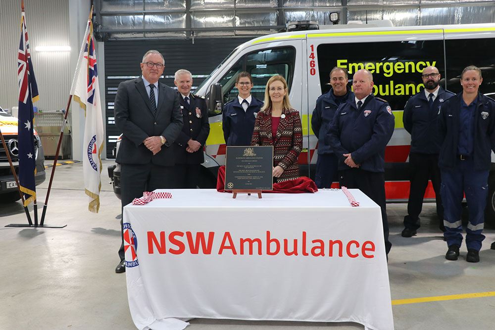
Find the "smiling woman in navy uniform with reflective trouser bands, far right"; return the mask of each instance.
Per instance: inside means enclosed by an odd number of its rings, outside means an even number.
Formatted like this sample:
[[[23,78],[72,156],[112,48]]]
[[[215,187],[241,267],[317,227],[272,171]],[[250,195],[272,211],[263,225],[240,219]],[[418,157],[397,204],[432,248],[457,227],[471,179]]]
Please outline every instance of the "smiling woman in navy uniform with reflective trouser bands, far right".
[[[461,202],[466,195],[469,223],[466,229],[466,261],[480,261],[479,250],[487,203],[488,174],[495,149],[495,101],[480,94],[481,70],[462,70],[459,93],[442,103],[439,130],[442,147],[439,166],[442,175],[444,233],[447,260],[457,260],[462,242]]]

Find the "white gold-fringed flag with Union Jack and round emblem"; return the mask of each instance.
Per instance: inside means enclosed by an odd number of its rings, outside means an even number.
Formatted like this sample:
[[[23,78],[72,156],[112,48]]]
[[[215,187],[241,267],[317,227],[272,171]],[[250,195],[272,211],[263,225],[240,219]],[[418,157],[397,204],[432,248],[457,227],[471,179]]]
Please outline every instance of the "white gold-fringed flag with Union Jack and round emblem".
[[[93,38],[93,23],[88,20],[83,45],[79,52],[76,73],[72,81],[73,100],[85,109],[83,172],[84,188],[89,196],[91,212],[98,213],[101,189],[101,149],[103,148],[103,118],[99,98],[98,69]]]

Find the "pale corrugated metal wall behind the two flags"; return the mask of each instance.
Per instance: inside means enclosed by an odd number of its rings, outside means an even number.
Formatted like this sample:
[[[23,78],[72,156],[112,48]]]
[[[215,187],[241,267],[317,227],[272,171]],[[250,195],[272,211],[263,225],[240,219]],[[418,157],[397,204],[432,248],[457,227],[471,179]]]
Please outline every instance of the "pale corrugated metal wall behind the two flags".
[[[70,52],[37,52],[36,46],[69,45],[69,4],[67,0],[25,0],[26,23],[34,72],[43,110],[66,106],[72,83]],[[0,105],[17,106],[17,49],[20,40],[20,0],[0,0]],[[74,51],[74,49],[73,49]],[[79,49],[75,50],[76,52]]]

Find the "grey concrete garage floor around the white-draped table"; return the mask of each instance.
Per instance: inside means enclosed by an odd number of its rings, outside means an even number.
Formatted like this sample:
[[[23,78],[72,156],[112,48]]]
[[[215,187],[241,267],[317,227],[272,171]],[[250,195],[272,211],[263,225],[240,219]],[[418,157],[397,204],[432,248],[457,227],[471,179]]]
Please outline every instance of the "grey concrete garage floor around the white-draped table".
[[[107,184],[109,164],[112,161],[104,161],[98,214],[87,211],[82,163],[57,167],[45,224],[66,224],[64,229],[5,228],[26,219],[20,202],[0,203],[0,329],[135,329],[125,275],[114,273],[120,245],[120,200]],[[37,189],[40,204],[47,188],[48,180]],[[480,263],[465,261],[465,246],[458,261],[447,261],[434,204],[425,204],[420,232],[411,238],[400,236],[406,204],[387,207],[394,244],[389,255],[393,300],[495,291],[495,251],[490,250],[495,240],[493,227],[485,230]],[[495,328],[494,296],[394,305],[393,312],[397,330]],[[186,329],[330,327],[364,328],[352,323],[194,319]]]

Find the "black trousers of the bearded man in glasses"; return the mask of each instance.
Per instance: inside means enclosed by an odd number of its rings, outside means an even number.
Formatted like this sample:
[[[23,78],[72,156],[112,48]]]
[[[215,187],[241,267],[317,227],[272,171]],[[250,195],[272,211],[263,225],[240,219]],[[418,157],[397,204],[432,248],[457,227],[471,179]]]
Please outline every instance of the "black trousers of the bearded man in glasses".
[[[427,154],[411,152],[409,154],[410,181],[409,201],[407,202],[407,215],[404,217],[404,227],[417,230],[420,227],[419,214],[423,209],[423,198],[428,181],[432,181],[437,202],[437,215],[440,220],[439,228],[445,231],[444,207],[440,196],[440,168],[438,167],[438,153]]]

